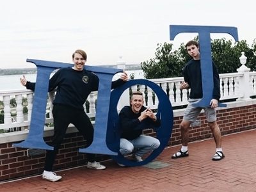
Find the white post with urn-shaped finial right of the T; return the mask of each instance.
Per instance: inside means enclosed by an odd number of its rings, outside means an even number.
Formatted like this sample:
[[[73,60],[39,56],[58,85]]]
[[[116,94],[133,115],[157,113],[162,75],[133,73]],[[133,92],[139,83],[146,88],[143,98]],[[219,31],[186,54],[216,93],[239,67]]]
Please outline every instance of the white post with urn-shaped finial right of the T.
[[[242,56],[239,58],[240,63],[242,64],[241,67],[237,68],[237,72],[243,73],[242,77],[239,77],[239,95],[240,98],[237,100],[251,100],[250,99],[250,68],[246,67],[244,64],[246,63],[246,56],[244,56],[244,52],[242,52]]]

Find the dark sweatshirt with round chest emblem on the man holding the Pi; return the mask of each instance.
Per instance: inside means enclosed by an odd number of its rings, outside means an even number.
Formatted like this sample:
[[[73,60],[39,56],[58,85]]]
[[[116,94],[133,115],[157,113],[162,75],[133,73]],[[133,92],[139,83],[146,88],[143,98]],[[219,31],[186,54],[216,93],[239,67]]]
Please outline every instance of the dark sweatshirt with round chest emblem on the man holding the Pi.
[[[125,82],[118,79],[112,82],[111,88]],[[83,104],[91,92],[99,88],[99,77],[86,70],[78,71],[71,67],[60,68],[49,80],[49,92],[57,87],[52,104],[60,104],[84,110]],[[26,88],[35,91],[35,83],[27,82]]]

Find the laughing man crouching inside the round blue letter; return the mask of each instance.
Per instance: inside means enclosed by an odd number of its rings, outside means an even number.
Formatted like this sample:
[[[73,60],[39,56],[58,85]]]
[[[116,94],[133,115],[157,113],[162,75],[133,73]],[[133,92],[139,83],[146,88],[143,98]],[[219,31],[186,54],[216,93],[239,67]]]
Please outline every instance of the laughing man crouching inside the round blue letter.
[[[126,156],[135,150],[132,159],[138,162],[143,161],[141,158],[143,155],[158,148],[160,142],[156,138],[143,135],[142,129],[136,128],[141,122],[154,127],[160,127],[161,122],[149,108],[143,106],[144,101],[141,92],[132,93],[130,103],[131,106],[125,106],[119,113],[120,128],[122,129],[119,151],[123,156]]]

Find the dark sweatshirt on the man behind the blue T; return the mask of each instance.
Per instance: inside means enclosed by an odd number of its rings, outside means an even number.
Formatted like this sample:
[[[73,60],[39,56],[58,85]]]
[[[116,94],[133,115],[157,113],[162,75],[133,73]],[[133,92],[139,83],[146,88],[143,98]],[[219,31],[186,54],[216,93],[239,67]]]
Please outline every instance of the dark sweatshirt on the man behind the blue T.
[[[220,76],[218,70],[212,61],[213,84],[212,99],[220,100]],[[202,99],[202,73],[200,60],[189,61],[183,69],[184,81],[190,86],[189,98]]]

